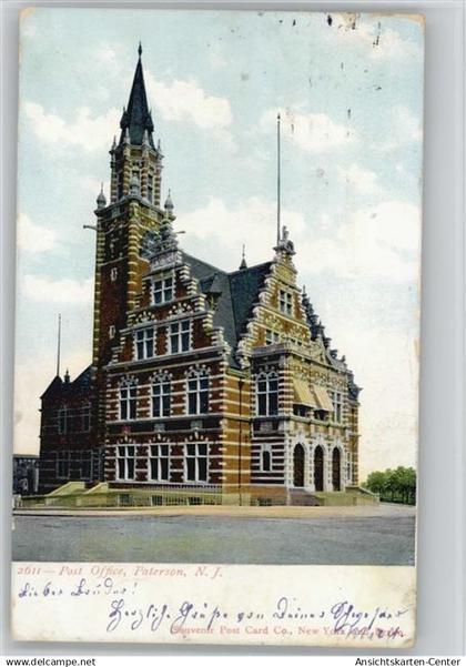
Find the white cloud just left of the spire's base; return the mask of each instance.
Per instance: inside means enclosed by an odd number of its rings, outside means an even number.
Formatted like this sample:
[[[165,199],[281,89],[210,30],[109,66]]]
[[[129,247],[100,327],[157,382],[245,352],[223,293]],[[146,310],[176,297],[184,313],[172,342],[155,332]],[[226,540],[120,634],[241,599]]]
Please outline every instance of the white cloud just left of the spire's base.
[[[121,117],[121,111],[114,108],[102,115],[92,117],[90,109],[81,107],[77,109],[74,119],[67,122],[54,113],[48,113],[36,102],[24,102],[23,110],[40,140],[50,144],[78,145],[85,151],[108,149]]]

